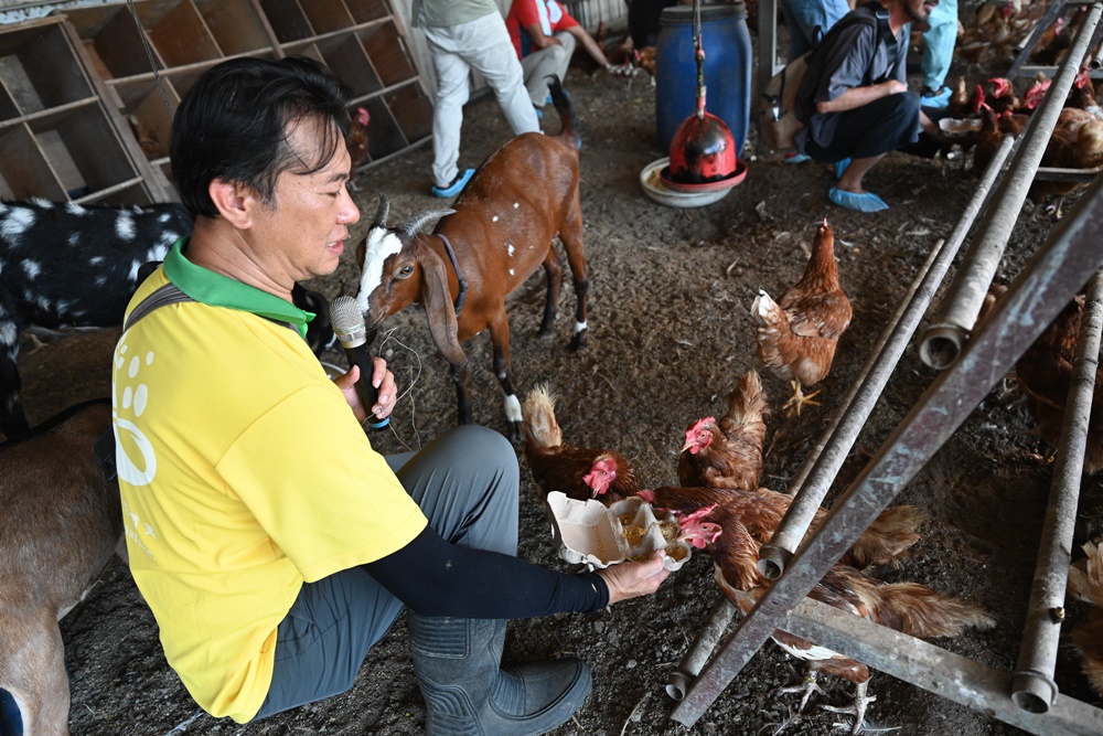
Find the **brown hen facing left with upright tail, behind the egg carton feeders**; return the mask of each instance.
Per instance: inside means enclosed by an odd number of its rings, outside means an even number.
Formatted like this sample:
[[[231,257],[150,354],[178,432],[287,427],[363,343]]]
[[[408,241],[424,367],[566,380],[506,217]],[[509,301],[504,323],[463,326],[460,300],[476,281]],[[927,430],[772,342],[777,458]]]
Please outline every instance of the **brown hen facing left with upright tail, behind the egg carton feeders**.
[[[757,371],[748,371],[728,394],[728,412],[719,422],[705,417],[686,429],[678,482],[745,491],[758,488],[765,439],[762,415],[768,410],[762,381]]]

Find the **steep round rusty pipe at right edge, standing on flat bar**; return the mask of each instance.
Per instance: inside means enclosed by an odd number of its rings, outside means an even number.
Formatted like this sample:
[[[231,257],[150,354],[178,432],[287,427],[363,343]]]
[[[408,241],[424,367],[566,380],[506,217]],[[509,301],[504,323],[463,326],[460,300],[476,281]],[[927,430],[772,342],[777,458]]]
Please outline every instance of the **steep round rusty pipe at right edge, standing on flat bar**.
[[[1027,607],[1011,700],[1030,713],[1046,713],[1057,697],[1053,671],[1064,619],[1064,593],[1072,562],[1072,534],[1080,502],[1080,477],[1088,446],[1088,423],[1100,364],[1103,326],[1103,271],[1092,278],[1077,344],[1074,373],[1065,402],[1064,424],[1053,463],[1053,482],[1042,524],[1038,562]]]

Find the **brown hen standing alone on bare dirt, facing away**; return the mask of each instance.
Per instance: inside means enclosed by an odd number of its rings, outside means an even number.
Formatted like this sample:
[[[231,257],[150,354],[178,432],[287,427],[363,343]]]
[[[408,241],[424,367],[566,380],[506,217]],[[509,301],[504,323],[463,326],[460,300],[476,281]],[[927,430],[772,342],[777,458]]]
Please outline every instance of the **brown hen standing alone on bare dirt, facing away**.
[[[824,380],[835,359],[838,338],[850,324],[850,300],[838,282],[835,236],[825,218],[816,231],[812,257],[801,280],[774,302],[760,290],[751,306],[758,327],[758,358],[774,375],[789,381],[793,396],[784,408],[800,415],[805,404],[816,404],[803,386]]]

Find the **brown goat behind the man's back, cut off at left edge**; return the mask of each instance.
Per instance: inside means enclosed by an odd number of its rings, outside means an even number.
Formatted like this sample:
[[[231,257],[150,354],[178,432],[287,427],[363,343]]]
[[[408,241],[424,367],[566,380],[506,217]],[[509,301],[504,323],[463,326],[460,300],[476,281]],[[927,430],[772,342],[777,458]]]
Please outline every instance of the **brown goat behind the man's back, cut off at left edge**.
[[[0,689],[24,736],[68,734],[57,621],[126,555],[119,488],[93,451],[110,427],[110,402],[88,402],[0,445]]]

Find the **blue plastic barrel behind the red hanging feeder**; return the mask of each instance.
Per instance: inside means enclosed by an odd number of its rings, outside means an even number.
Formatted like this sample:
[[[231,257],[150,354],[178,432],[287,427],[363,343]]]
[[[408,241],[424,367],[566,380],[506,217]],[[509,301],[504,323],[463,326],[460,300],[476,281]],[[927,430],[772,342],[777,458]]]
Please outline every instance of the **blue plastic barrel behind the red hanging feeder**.
[[[678,126],[697,111],[697,57],[693,6],[663,10],[655,47],[655,124],[658,147],[670,152]],[[742,156],[750,129],[751,35],[742,2],[702,4],[700,45],[705,50],[705,110],[731,129]]]

